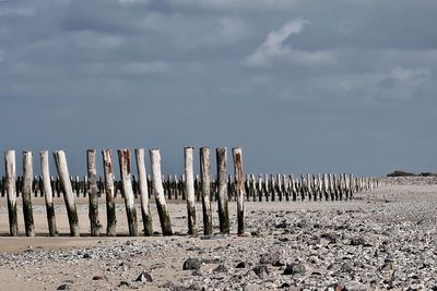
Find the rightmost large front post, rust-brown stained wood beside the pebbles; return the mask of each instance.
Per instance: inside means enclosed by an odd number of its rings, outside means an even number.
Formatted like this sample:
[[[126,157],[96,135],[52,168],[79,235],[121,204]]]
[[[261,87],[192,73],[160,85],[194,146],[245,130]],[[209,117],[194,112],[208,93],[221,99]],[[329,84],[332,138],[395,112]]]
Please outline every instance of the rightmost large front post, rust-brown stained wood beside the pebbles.
[[[245,174],[243,171],[243,153],[240,147],[233,148],[235,187],[237,194],[238,234],[245,233]]]

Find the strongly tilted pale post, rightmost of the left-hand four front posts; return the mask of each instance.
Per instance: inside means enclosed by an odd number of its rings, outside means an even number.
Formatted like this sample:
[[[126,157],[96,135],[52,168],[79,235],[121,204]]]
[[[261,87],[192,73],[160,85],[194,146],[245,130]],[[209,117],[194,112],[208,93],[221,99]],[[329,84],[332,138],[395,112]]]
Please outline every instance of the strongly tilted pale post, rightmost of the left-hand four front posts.
[[[67,215],[70,222],[70,234],[71,237],[79,237],[79,218],[75,208],[74,193],[70,181],[70,173],[67,166],[66,153],[63,150],[57,150],[54,153],[54,157],[58,175],[61,181],[63,199],[66,201]]]

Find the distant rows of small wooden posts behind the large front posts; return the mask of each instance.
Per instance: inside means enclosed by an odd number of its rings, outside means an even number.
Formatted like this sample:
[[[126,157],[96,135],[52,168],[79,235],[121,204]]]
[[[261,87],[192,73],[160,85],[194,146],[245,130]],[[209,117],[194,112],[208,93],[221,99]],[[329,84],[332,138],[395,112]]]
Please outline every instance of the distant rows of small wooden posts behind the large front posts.
[[[115,197],[121,196],[121,181],[114,177]],[[153,193],[152,177],[147,174],[147,192],[149,198]],[[169,199],[185,201],[185,174],[163,174],[164,196]],[[228,174],[227,178],[227,194],[229,201],[236,199],[235,178]],[[90,181],[87,175],[70,177],[70,182],[73,192],[78,198],[87,197],[90,193]],[[351,183],[347,185],[347,183]],[[246,201],[250,202],[275,202],[275,201],[305,201],[305,199],[331,199],[342,201],[347,199],[349,194],[355,192],[371,191],[378,187],[382,182],[379,179],[353,177],[352,174],[246,174],[245,191]],[[50,175],[50,184],[54,197],[62,196],[61,182],[58,175]],[[386,183],[387,184],[387,183]],[[97,179],[98,197],[105,193],[104,177]],[[23,193],[23,177],[17,175],[15,181],[16,195],[20,197]],[[140,183],[138,177],[132,174],[132,190],[134,197],[140,196]],[[194,193],[196,201],[201,201],[201,180],[200,175],[194,175]],[[34,175],[32,182],[32,194],[34,197],[44,197],[43,175]],[[217,183],[216,178],[211,177],[211,199],[217,199]],[[5,196],[5,177],[0,179],[0,195]]]

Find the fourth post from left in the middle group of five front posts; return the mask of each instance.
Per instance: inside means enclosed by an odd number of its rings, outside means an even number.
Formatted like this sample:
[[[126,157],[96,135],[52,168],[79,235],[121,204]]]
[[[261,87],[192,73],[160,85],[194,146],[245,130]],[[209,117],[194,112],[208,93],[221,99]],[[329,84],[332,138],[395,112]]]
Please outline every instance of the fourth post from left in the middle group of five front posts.
[[[137,158],[139,192],[141,202],[141,216],[143,218],[144,234],[145,237],[152,237],[153,235],[152,214],[149,204],[149,185],[147,185],[147,174],[144,161],[144,148],[135,149],[135,158]]]

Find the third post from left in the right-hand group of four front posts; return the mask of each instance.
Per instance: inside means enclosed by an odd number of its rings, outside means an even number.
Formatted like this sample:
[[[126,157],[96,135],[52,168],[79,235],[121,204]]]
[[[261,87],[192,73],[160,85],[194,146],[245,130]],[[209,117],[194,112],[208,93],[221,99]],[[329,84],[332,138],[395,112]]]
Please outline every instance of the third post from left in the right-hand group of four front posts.
[[[227,196],[227,148],[215,149],[217,167],[217,205],[220,232],[229,233],[229,210]]]

